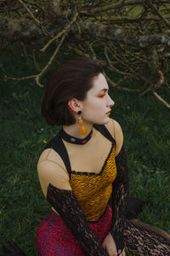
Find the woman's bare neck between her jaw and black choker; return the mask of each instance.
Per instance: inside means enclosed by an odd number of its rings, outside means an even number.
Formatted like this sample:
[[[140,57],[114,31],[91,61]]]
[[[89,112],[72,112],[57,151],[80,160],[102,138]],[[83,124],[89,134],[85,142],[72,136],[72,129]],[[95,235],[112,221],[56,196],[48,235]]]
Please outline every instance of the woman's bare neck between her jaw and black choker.
[[[63,125],[63,130],[71,135],[72,137],[77,137],[80,139],[83,139],[85,137],[88,136],[88,133],[90,133],[90,131],[92,131],[93,125],[92,124],[83,124],[86,128],[87,128],[87,133],[85,135],[82,135],[80,132],[80,128],[81,125],[79,125],[78,123],[74,124],[74,125]]]

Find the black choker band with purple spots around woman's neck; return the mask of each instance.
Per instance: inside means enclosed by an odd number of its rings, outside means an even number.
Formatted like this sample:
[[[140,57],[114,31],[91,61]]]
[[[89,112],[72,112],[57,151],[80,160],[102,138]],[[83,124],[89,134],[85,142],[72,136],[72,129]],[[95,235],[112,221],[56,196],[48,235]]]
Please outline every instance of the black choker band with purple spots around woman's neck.
[[[66,142],[73,143],[73,144],[81,144],[81,145],[85,144],[85,143],[88,143],[88,141],[92,137],[92,134],[93,134],[93,129],[90,131],[90,133],[88,134],[87,137],[84,137],[83,139],[80,139],[80,138],[73,137],[73,136],[69,135],[63,129],[61,129],[59,131],[60,137],[62,137]]]

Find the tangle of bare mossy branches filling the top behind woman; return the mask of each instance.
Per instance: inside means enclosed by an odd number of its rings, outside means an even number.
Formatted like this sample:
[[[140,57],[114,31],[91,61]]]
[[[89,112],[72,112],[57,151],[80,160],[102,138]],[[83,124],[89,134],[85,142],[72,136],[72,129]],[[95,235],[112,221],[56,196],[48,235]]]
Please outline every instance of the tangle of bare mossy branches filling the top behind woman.
[[[42,86],[60,52],[85,55],[111,73],[106,78],[117,90],[150,93],[168,107],[157,91],[164,84],[170,90],[169,20],[170,3],[163,0],[1,0],[0,49],[19,42],[23,57],[35,65],[37,74],[19,80],[36,79]],[[37,54],[48,55],[42,68]],[[16,80],[0,68],[4,79]],[[132,89],[132,80],[141,85]]]

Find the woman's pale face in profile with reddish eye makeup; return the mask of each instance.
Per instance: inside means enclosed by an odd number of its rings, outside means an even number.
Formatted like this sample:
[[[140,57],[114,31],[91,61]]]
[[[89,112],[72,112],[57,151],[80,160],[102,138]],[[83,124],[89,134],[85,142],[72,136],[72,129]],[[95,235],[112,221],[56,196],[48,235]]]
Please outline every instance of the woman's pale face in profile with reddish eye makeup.
[[[103,125],[109,122],[111,107],[115,104],[108,95],[108,84],[102,73],[94,78],[93,87],[88,90],[82,101],[82,119],[84,123]]]

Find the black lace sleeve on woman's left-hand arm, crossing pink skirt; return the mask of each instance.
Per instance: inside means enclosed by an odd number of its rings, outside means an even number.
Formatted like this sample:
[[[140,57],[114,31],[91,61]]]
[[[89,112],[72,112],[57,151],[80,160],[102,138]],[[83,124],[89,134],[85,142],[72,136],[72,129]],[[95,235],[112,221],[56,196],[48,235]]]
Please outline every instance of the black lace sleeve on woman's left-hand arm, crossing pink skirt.
[[[72,235],[79,241],[85,255],[108,256],[99,239],[88,225],[82,207],[71,190],[57,189],[49,183],[47,199],[54,209],[59,212],[59,216],[65,221]]]

